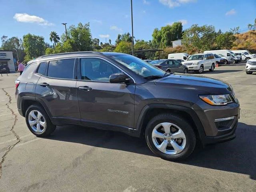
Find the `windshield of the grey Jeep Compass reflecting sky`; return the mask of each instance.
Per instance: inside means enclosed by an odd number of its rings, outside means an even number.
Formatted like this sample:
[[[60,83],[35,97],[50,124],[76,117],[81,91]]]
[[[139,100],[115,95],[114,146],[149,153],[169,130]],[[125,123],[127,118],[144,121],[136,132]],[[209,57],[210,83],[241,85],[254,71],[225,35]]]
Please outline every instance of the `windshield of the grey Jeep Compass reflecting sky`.
[[[164,76],[165,72],[131,55],[111,56],[114,60],[142,77]]]

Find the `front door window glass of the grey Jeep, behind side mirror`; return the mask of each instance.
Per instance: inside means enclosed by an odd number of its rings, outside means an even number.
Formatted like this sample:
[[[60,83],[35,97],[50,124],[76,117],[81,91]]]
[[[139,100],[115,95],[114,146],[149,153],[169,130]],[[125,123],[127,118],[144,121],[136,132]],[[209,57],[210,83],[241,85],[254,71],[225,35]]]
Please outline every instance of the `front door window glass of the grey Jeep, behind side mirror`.
[[[109,82],[109,76],[114,73],[122,73],[112,64],[98,58],[81,59],[81,79]]]

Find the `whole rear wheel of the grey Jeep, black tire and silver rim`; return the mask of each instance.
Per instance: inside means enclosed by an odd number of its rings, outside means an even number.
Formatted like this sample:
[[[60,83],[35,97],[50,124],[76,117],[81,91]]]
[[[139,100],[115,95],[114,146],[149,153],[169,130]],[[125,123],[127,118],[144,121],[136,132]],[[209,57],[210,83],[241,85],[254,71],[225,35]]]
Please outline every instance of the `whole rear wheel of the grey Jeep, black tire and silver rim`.
[[[28,129],[37,137],[49,136],[56,128],[46,111],[38,105],[29,106],[25,118]]]

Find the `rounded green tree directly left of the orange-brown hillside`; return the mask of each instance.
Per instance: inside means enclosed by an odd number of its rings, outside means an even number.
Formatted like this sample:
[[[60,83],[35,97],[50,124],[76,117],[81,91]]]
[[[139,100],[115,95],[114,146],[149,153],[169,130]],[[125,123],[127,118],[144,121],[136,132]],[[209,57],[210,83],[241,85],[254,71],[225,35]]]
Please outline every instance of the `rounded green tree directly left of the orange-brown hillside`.
[[[235,40],[232,32],[225,32],[216,37],[216,44],[220,49],[231,49]]]

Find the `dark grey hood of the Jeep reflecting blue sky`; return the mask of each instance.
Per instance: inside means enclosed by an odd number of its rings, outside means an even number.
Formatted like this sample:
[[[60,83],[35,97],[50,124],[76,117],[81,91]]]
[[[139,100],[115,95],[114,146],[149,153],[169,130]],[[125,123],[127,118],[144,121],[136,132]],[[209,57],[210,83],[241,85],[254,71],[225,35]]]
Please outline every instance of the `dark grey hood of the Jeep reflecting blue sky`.
[[[171,74],[154,81],[158,86],[178,86],[178,88],[199,90],[210,94],[225,94],[233,92],[227,82],[191,74]]]

